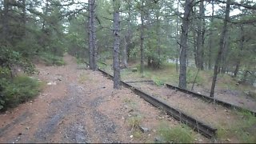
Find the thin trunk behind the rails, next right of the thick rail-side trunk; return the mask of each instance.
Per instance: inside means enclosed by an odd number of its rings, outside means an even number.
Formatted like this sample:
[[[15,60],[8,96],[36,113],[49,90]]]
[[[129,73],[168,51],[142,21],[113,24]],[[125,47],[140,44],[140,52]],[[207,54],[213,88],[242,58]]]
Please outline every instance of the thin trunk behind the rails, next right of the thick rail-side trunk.
[[[141,50],[141,67],[140,67],[140,73],[143,74],[144,71],[144,11],[143,11],[143,6],[144,6],[144,0],[142,0],[142,10],[141,10],[141,45],[140,45],[140,50]]]

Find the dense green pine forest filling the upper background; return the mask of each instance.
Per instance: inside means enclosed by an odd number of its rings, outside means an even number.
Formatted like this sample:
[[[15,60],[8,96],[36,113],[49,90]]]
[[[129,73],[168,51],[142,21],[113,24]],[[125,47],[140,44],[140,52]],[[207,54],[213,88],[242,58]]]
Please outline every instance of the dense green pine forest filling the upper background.
[[[117,89],[120,69],[129,63],[137,63],[142,74],[174,63],[184,89],[188,67],[206,71],[212,78],[210,96],[218,74],[229,74],[238,85],[255,85],[253,0],[3,0],[0,14],[0,109],[22,94],[19,82],[33,83],[17,79],[19,70],[34,73],[38,59],[65,65],[65,52],[90,62],[92,70],[113,58]],[[17,103],[27,99],[19,98]]]

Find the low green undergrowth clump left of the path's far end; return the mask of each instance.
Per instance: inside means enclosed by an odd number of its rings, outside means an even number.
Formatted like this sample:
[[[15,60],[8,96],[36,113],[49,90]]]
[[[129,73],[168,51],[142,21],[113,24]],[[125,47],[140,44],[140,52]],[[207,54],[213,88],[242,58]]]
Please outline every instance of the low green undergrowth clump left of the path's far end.
[[[50,53],[40,54],[40,58],[46,62],[46,66],[63,66],[66,64],[62,57]]]

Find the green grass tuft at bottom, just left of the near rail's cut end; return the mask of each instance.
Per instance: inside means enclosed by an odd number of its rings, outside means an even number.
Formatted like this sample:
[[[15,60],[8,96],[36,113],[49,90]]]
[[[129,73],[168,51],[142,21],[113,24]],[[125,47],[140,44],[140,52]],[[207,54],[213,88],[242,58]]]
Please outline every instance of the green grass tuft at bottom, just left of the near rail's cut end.
[[[192,143],[195,137],[190,127],[186,125],[170,127],[166,122],[161,122],[158,126],[158,135],[164,142],[173,143]]]

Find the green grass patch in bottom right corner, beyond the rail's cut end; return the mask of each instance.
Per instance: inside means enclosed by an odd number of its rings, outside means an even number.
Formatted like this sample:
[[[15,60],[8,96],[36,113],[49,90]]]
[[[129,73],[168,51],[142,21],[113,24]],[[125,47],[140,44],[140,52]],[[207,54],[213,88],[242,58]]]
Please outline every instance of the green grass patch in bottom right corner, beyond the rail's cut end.
[[[256,142],[256,117],[246,110],[236,110],[234,113],[241,118],[228,126],[218,128],[218,138],[225,141],[227,138],[236,138],[242,143]]]

